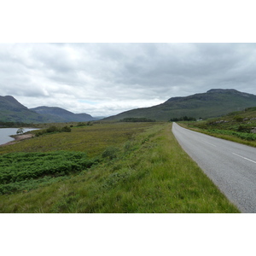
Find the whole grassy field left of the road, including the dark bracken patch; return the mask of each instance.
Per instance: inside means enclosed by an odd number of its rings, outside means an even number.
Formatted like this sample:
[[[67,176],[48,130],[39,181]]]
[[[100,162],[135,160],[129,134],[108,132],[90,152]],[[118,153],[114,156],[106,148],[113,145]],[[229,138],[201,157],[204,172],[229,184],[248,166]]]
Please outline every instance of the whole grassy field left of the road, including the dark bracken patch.
[[[73,127],[2,147],[0,157],[2,184],[15,188],[2,189],[0,212],[239,212],[170,123]]]

